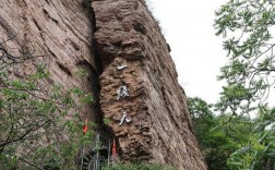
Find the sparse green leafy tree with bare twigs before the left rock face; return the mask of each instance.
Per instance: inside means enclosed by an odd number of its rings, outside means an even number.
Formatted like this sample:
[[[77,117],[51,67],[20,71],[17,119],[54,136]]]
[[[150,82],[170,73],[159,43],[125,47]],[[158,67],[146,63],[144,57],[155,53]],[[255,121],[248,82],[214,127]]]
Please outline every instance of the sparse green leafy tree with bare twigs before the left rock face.
[[[74,169],[82,135],[81,102],[93,102],[79,88],[49,84],[41,56],[26,47],[11,54],[0,44],[0,169]],[[38,64],[39,63],[39,64]],[[43,63],[43,64],[41,64]],[[33,65],[26,74],[22,68]]]

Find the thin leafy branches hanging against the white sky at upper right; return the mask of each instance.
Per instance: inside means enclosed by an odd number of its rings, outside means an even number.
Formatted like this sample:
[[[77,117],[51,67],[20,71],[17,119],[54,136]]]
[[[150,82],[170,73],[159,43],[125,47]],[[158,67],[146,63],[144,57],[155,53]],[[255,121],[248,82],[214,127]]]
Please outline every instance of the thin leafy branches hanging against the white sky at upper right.
[[[216,34],[224,35],[224,49],[230,60],[219,75],[227,82],[218,105],[223,111],[248,113],[253,109],[243,108],[268,97],[275,75],[271,35],[274,19],[273,2],[268,0],[230,0],[216,12]]]

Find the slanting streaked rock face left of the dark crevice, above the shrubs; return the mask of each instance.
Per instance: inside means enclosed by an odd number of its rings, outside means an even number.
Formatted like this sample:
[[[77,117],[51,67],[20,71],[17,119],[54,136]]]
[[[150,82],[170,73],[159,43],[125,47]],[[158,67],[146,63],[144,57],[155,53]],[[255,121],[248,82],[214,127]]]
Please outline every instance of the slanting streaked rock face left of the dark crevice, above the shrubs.
[[[10,53],[20,56],[27,47],[34,56],[44,56],[48,64],[49,83],[65,88],[79,87],[85,92],[97,92],[97,66],[92,45],[91,13],[81,0],[1,0],[0,42]],[[37,58],[40,59],[40,58]],[[22,65],[21,72],[29,72],[29,64]],[[85,70],[88,77],[80,76]],[[95,119],[96,110],[87,106],[81,113],[84,119]]]

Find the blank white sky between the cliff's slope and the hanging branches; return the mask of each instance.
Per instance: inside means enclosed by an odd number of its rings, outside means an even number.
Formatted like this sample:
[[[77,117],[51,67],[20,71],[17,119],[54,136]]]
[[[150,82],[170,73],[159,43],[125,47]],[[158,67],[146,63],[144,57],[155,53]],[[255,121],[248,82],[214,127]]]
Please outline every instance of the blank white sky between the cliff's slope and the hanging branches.
[[[226,0],[147,0],[170,45],[178,81],[187,96],[210,104],[218,100],[223,82],[219,68],[226,62],[223,38],[215,36],[215,11]]]

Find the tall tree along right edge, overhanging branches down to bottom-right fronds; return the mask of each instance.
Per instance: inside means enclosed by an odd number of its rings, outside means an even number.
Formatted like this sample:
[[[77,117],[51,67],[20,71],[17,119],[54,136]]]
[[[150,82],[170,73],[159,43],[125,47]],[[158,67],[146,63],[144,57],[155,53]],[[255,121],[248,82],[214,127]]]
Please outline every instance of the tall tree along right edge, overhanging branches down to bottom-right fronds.
[[[216,35],[225,38],[229,58],[218,76],[227,85],[217,107],[230,113],[229,122],[246,117],[250,124],[246,143],[228,160],[231,169],[274,169],[274,109],[266,108],[275,83],[274,24],[271,0],[229,0],[216,12]]]

